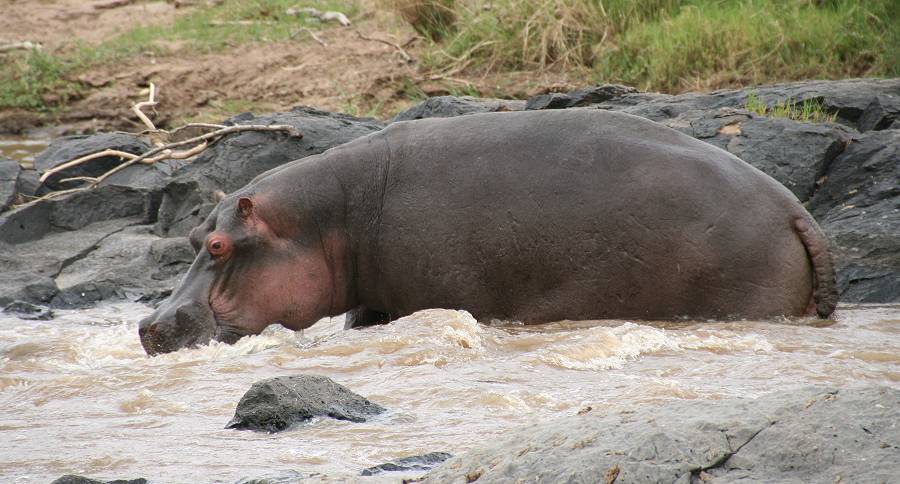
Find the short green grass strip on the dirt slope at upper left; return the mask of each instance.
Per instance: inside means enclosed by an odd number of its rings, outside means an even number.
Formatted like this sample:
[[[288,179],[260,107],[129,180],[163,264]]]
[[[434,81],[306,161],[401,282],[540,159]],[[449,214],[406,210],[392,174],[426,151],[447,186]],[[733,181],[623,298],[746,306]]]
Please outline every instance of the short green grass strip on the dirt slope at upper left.
[[[80,74],[126,59],[168,55],[172,45],[217,52],[251,42],[287,40],[300,27],[322,25],[315,18],[286,14],[288,8],[300,7],[339,10],[351,18],[359,12],[356,2],[338,0],[230,0],[198,7],[170,24],[135,27],[97,45],[73,43],[56,52],[7,55],[0,64],[0,109],[58,109],[85,91],[77,79]]]

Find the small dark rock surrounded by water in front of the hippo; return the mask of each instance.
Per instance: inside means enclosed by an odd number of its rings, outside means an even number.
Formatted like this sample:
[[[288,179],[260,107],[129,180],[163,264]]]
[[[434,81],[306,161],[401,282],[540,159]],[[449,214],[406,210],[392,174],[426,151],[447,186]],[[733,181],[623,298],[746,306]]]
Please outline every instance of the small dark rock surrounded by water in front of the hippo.
[[[384,411],[330,378],[279,376],[254,383],[225,428],[280,432],[313,417],[365,422]]]

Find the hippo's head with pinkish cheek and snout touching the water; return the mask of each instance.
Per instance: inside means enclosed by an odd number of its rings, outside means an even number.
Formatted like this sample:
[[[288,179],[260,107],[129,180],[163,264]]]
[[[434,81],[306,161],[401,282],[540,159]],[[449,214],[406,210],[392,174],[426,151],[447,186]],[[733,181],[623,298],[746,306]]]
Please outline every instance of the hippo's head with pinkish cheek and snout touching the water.
[[[330,313],[333,264],[311,214],[233,195],[190,241],[197,257],[181,286],[140,323],[147,354],[233,343],[273,323],[303,329]]]

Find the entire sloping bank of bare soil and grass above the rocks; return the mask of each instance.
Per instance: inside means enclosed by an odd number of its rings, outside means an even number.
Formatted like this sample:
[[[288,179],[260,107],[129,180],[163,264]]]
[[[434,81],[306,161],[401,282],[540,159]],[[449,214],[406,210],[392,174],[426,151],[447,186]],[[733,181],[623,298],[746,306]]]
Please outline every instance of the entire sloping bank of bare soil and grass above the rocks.
[[[0,19],[3,40],[44,42],[27,38],[28,9],[79,4],[25,3],[0,0],[13,19]],[[57,36],[43,50],[0,54],[0,131],[16,129],[3,124],[10,113],[32,124],[129,127],[116,110],[150,81],[170,93],[161,108],[170,118],[158,121],[172,126],[296,104],[384,118],[428,95],[523,97],[602,82],[682,92],[900,75],[894,0],[196,3],[166,11],[130,2],[121,10],[137,21],[94,15],[78,24],[87,40]],[[340,11],[353,25],[303,8]],[[48,19],[52,36],[60,28]]]

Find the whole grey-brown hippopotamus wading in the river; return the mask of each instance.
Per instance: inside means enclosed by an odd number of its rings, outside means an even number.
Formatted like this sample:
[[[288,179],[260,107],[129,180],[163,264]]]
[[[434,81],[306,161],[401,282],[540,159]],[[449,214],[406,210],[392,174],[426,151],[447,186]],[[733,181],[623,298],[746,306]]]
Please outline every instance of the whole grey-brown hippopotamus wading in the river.
[[[628,114],[398,122],[282,165],[190,233],[197,256],[140,323],[149,354],[279,323],[426,308],[481,321],[829,316],[828,242],[781,184]]]

